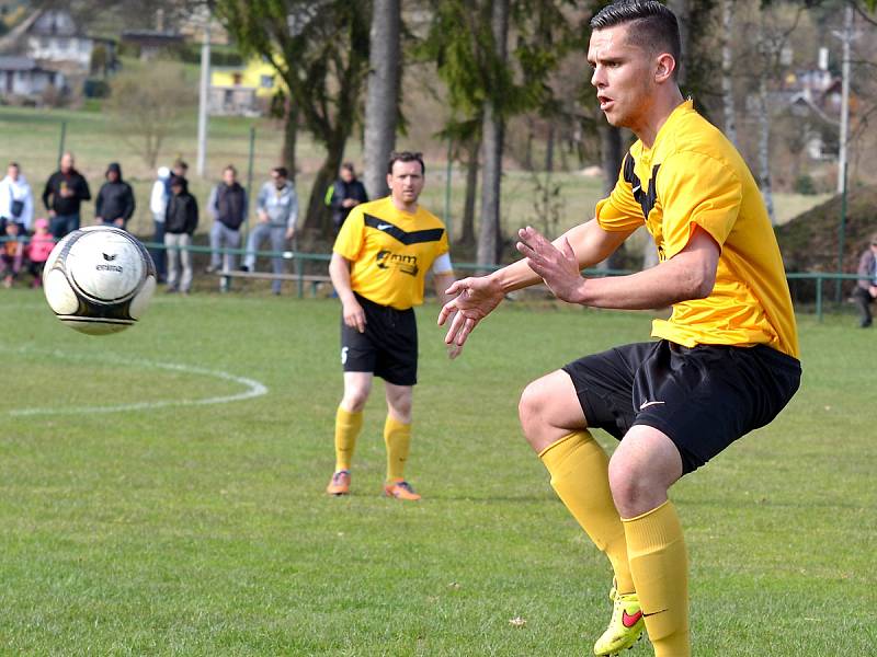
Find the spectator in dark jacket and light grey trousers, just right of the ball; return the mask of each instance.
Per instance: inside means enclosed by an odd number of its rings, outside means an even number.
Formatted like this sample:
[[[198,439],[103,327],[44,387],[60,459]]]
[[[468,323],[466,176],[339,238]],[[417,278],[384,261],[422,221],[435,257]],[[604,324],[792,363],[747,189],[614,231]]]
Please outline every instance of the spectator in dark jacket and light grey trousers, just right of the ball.
[[[170,182],[171,196],[164,211],[164,250],[168,253],[168,291],[187,295],[192,289],[192,234],[198,226],[198,203],[182,176]],[[182,264],[182,278],[180,278]]]

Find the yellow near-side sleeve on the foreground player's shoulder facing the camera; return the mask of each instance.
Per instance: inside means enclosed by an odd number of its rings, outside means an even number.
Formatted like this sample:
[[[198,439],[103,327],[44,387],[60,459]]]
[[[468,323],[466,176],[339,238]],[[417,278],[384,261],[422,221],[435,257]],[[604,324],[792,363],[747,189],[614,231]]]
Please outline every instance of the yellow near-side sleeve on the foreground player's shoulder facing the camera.
[[[737,221],[742,197],[737,173],[715,158],[684,152],[665,160],[658,173],[664,255],[671,258],[685,249],[695,226],[721,249]]]

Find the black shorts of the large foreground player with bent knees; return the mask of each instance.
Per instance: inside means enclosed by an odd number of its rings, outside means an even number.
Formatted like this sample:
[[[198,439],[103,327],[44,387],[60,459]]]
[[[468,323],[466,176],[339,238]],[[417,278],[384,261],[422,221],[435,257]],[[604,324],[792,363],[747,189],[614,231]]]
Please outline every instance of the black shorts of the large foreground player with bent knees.
[[[622,439],[646,425],[667,434],[693,472],[770,423],[798,390],[800,362],[765,345],[683,347],[662,339],[580,358],[562,368],[589,427]]]

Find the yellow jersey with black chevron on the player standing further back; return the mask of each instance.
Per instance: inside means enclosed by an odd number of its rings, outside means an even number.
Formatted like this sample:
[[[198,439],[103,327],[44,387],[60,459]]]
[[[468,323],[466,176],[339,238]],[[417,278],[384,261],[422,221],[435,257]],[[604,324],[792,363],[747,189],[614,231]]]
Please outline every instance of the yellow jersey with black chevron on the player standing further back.
[[[422,206],[413,214],[405,212],[387,196],[351,210],[333,251],[351,262],[354,292],[406,310],[423,303],[426,272],[448,252],[447,231]]]

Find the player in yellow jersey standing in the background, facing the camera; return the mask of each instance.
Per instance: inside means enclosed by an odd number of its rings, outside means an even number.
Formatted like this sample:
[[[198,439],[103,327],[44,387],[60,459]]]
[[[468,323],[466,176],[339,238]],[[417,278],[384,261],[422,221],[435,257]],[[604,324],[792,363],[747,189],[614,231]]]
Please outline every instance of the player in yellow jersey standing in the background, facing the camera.
[[[411,442],[411,396],[418,373],[413,306],[423,302],[432,270],[442,303],[454,281],[447,231],[441,219],[418,205],[425,166],[420,153],[390,155],[390,195],[354,207],[335,240],[329,273],[342,303],[341,362],[344,396],[335,415],[335,471],[326,492],[350,492],[351,460],[374,376],[384,379],[387,419],[387,479],[384,494],[417,500],[405,480]],[[448,350],[451,357],[459,353]]]

